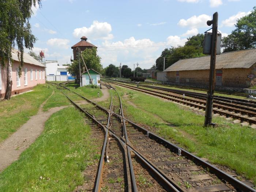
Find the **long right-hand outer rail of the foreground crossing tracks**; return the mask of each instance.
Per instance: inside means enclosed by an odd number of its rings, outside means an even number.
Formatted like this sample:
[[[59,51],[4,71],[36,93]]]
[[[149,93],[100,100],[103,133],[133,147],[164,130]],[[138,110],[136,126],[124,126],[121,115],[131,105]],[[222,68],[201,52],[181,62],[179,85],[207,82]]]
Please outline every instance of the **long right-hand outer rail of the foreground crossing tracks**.
[[[74,92],[75,93],[75,92]],[[79,94],[78,94],[79,95]],[[80,95],[80,97],[84,98],[83,96]],[[108,109],[105,109],[101,106],[99,106],[97,103],[94,103],[92,101],[90,101],[87,98],[84,98],[87,101],[93,103],[94,105],[98,106],[98,108],[108,111]],[[75,103],[74,103],[75,104]],[[77,105],[78,106],[78,105]],[[113,113],[115,116],[118,116],[120,118],[122,118],[119,114]],[[94,117],[91,117],[94,120]],[[230,176],[229,174],[223,172],[222,170],[218,169],[217,167],[211,165],[210,163],[207,163],[206,161],[203,161],[202,159],[200,159],[199,157],[196,157],[195,155],[189,153],[188,151],[184,150],[181,147],[176,146],[173,143],[170,143],[169,141],[155,135],[154,133],[148,131],[147,129],[140,127],[139,125],[133,123],[132,121],[128,120],[127,118],[124,118],[124,120],[126,120],[128,123],[132,124],[133,127],[137,128],[138,130],[140,130],[141,132],[143,132],[144,134],[147,134],[149,137],[153,138],[155,141],[157,141],[158,143],[162,144],[163,146],[167,146],[171,151],[173,151],[174,153],[178,153],[178,151],[181,151],[181,154],[184,157],[187,157],[188,159],[191,159],[193,162],[196,162],[197,164],[201,165],[204,168],[208,168],[209,171],[211,173],[214,173],[217,177],[229,182],[231,185],[233,185],[233,187],[243,191],[243,192],[256,192],[255,189],[247,186],[246,184],[244,184],[243,182],[237,180],[236,178]],[[94,121],[95,122],[95,121]],[[97,123],[97,122],[95,122]],[[114,135],[114,133],[112,133]],[[132,148],[132,146],[129,146]]]

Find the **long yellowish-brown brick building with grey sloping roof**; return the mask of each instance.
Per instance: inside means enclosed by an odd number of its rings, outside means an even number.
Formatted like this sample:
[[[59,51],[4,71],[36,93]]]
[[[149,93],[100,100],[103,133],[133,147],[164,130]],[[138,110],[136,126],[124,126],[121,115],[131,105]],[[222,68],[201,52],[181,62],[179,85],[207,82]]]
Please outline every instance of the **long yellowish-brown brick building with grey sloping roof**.
[[[256,84],[256,49],[216,57],[216,86],[246,88]],[[165,69],[168,82],[207,87],[210,56],[179,60]]]

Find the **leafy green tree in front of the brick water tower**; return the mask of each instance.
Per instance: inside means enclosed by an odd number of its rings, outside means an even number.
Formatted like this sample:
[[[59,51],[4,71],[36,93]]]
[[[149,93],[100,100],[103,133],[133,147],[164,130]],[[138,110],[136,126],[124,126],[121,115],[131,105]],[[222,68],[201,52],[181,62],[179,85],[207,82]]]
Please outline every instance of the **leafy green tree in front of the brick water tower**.
[[[82,56],[86,64],[87,69],[94,69],[95,71],[102,73],[103,67],[101,65],[101,57],[97,55],[97,48],[93,47],[90,49],[85,49],[82,51]],[[81,72],[83,71],[84,63],[82,57],[80,56],[80,68]],[[80,74],[79,74],[79,57],[74,60],[74,62],[67,67],[69,74],[76,76],[76,83],[79,83]]]

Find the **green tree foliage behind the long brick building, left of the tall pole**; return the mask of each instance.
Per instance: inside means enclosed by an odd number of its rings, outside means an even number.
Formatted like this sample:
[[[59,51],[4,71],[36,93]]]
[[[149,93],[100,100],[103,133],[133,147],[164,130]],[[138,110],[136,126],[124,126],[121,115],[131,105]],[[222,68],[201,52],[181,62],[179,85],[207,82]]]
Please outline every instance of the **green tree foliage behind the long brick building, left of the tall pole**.
[[[163,59],[165,57],[165,69],[180,59],[202,57],[204,35],[197,34],[188,38],[184,46],[171,47],[164,49],[161,56],[155,61],[157,69],[163,71]]]

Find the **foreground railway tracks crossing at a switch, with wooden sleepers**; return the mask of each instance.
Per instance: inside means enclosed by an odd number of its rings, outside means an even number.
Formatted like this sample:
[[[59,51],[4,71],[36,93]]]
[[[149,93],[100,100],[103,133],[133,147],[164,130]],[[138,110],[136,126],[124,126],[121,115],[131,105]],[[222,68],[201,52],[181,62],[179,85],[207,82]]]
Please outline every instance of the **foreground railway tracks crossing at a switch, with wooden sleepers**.
[[[71,91],[71,90],[69,90],[69,91]],[[128,188],[125,188],[127,191],[143,191],[143,190],[141,190],[140,185],[138,183],[138,181],[140,181],[140,178],[139,178],[138,174],[136,174],[136,173],[138,173],[138,171],[136,170],[138,166],[135,163],[139,162],[140,165],[144,167],[143,172],[145,173],[145,169],[147,169],[147,172],[150,173],[152,178],[153,177],[155,178],[155,179],[153,179],[154,182],[152,182],[151,185],[153,185],[155,183],[157,185],[161,184],[162,187],[164,187],[166,189],[166,191],[208,191],[208,192],[252,191],[252,192],[256,192],[254,189],[252,189],[248,185],[245,185],[243,182],[237,180],[236,178],[226,174],[225,172],[222,172],[218,168],[216,168],[216,167],[210,165],[209,163],[203,161],[202,159],[190,154],[189,152],[185,151],[184,149],[168,142],[165,139],[160,138],[159,136],[155,135],[154,133],[149,132],[146,129],[144,129],[143,127],[140,127],[139,125],[134,124],[132,121],[129,121],[128,119],[124,118],[123,109],[122,109],[122,105],[121,105],[121,99],[120,99],[121,115],[119,115],[119,114],[114,113],[113,110],[111,109],[112,102],[110,105],[110,110],[108,110],[108,109],[105,109],[105,108],[97,105],[94,102],[91,102],[89,99],[86,99],[81,95],[80,95],[80,97],[82,97],[87,102],[90,102],[91,104],[95,105],[95,107],[97,109],[100,109],[100,110],[108,113],[109,114],[108,119],[110,119],[109,117],[112,114],[113,116],[116,116],[116,117],[120,118],[120,120],[122,120],[123,125],[124,125],[123,129],[125,132],[125,134],[124,134],[125,137],[119,138],[117,135],[115,135],[111,131],[111,129],[109,129],[109,130],[106,129],[106,127],[108,127],[108,125],[103,126],[101,123],[99,123],[95,119],[94,116],[89,114],[86,110],[83,110],[82,108],[80,108],[79,105],[77,105],[75,102],[72,102],[81,111],[83,111],[88,117],[90,117],[94,121],[94,123],[97,123],[102,129],[104,129],[105,133],[108,133],[108,131],[109,131],[110,135],[112,135],[113,138],[116,138],[116,140],[118,140],[120,143],[123,143],[123,146],[126,146],[126,149],[128,152],[127,154],[128,154],[129,170],[130,170],[130,172],[129,172],[130,174],[128,175],[128,178],[129,178],[129,176],[131,178],[131,180],[130,180],[131,184],[128,184]],[[71,100],[71,99],[69,98],[69,100]],[[128,131],[126,131],[127,129],[128,129]],[[130,138],[130,139],[136,138],[136,139],[131,139],[132,142],[130,142],[128,138]],[[139,140],[139,142],[143,142],[142,144],[137,146],[137,148],[135,148],[136,140]],[[145,140],[147,140],[147,141],[145,141]],[[125,145],[125,142],[126,142],[126,145]],[[150,142],[153,142],[153,144]],[[103,161],[103,159],[105,157],[104,149],[106,148],[106,145],[107,145],[107,142],[105,140],[103,148],[102,148],[102,156],[101,156],[101,161],[100,161],[101,163],[98,168],[98,176],[97,176],[97,181],[96,181],[96,185],[95,185],[95,191],[99,191],[99,186],[100,186],[99,182],[101,181],[101,178],[100,178],[101,174],[99,174],[99,173],[101,173],[101,170],[102,170],[101,164],[103,164],[103,162],[104,162]],[[151,145],[151,146],[149,146],[149,145]],[[155,146],[153,146],[153,145],[155,145]],[[141,146],[147,146],[147,147],[143,147],[144,149],[140,149],[140,148],[142,148]],[[125,148],[124,148],[124,150],[125,150]],[[152,152],[150,150],[153,150],[154,152]],[[143,153],[144,155],[141,154],[140,151],[144,151],[144,153]],[[160,152],[160,153],[163,152],[163,154],[162,155],[157,154],[158,152]],[[153,153],[154,153],[154,155],[153,155]],[[164,153],[169,153],[169,154],[164,154]],[[151,156],[148,156],[150,154],[151,154]],[[130,159],[131,155],[133,157],[135,157],[132,160]],[[155,157],[152,157],[152,156],[155,156]],[[188,163],[178,163],[177,164],[177,161],[176,162],[170,161],[171,159],[168,159],[168,158],[182,159],[183,162],[188,161]],[[161,160],[159,160],[159,159],[161,159]],[[161,163],[157,163],[157,162],[161,162]],[[163,165],[164,167],[161,167],[161,165]],[[188,165],[188,166],[184,166],[184,165]],[[171,166],[171,167],[168,167],[168,166]],[[198,169],[200,168],[200,170],[202,171],[198,174],[199,176],[197,176],[197,178],[191,179],[190,177],[184,178],[184,176],[182,176],[182,173],[184,174],[185,172],[187,172],[187,173],[190,172],[189,170],[185,170],[182,167],[190,167],[190,168],[186,168],[186,169],[195,169],[193,167],[196,167],[196,166],[198,167]],[[172,168],[172,169],[170,169],[170,168]],[[134,172],[133,172],[133,170],[134,170]],[[176,175],[167,174],[169,172],[170,173],[175,172]],[[206,174],[202,174],[202,173],[206,173]],[[146,175],[149,175],[149,174],[146,174]],[[195,179],[198,180],[198,177],[204,178],[204,182],[200,183],[199,186],[197,184],[193,183],[193,182],[195,182]],[[212,177],[212,178],[205,179],[205,177],[207,177],[207,178]],[[219,180],[217,180],[217,177],[219,178]],[[213,182],[212,180],[214,180],[214,179],[216,181]],[[182,181],[184,182],[184,185],[181,184]],[[195,186],[197,186],[197,187],[195,187]],[[147,189],[148,188],[146,188],[146,190]],[[163,190],[163,188],[154,188],[154,189],[155,189],[154,191],[162,191]],[[144,191],[145,191],[145,188],[144,188]]]

